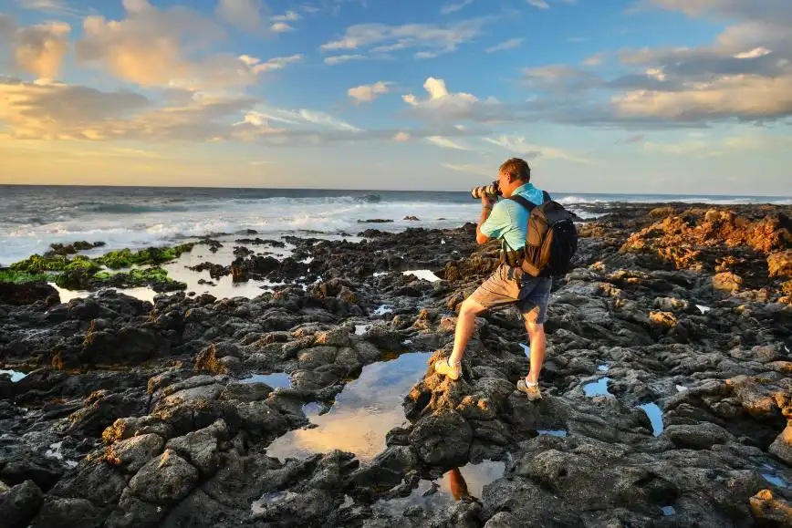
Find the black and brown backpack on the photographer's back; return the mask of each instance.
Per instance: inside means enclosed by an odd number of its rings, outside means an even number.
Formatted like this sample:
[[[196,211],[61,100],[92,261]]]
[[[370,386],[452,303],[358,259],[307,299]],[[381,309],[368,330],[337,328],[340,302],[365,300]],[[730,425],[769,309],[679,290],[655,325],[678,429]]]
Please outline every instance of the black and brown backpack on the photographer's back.
[[[578,251],[575,215],[551,200],[547,191],[542,195],[544,202],[540,205],[517,194],[509,197],[530,212],[521,267],[534,277],[566,274]]]

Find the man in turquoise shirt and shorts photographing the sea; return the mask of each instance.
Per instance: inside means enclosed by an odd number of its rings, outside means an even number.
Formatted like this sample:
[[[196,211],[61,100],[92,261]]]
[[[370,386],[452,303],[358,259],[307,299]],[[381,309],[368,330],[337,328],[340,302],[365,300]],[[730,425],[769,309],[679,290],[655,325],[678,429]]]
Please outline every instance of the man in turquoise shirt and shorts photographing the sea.
[[[544,192],[534,187],[531,170],[525,160],[511,158],[505,160],[498,170],[498,186],[505,198],[518,194],[529,202],[544,202]],[[522,250],[526,243],[526,229],[530,212],[514,200],[497,202],[497,197],[482,195],[483,209],[475,230],[475,240],[479,244],[491,238],[501,240],[502,254],[507,250]],[[504,255],[505,256],[505,255]],[[464,300],[456,322],[453,340],[453,353],[447,360],[434,363],[434,370],[452,379],[462,373],[464,347],[473,332],[475,317],[485,310],[495,310],[516,305],[526,322],[526,330],[531,342],[531,369],[525,379],[517,382],[517,390],[526,393],[529,400],[542,398],[539,391],[539,373],[545,359],[545,321],[550,299],[550,277],[532,277],[517,267],[502,264],[487,280]]]

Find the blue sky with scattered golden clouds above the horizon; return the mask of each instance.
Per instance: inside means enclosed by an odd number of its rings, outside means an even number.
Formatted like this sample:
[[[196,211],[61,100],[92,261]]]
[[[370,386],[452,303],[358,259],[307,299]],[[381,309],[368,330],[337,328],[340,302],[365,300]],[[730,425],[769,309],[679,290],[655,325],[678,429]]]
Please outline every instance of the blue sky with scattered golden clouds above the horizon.
[[[0,183],[792,195],[789,0],[0,0]]]

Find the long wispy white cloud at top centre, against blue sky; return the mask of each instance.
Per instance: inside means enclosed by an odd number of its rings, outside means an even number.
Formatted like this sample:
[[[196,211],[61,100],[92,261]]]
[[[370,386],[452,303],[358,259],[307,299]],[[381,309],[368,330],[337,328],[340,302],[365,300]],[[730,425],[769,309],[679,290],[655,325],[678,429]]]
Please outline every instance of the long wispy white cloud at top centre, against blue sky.
[[[453,52],[460,45],[479,36],[488,18],[474,18],[445,26],[431,24],[359,24],[349,26],[339,40],[321,45],[322,51],[370,48],[373,53],[387,53],[418,48],[417,58],[436,57]]]

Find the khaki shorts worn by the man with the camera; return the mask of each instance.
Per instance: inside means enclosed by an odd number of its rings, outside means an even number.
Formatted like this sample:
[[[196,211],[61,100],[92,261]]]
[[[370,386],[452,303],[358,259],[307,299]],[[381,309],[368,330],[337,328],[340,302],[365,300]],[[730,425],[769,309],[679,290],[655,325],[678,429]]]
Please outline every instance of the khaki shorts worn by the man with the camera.
[[[501,264],[471,298],[489,310],[515,305],[526,321],[544,325],[552,285],[551,277],[532,277],[521,268]]]

